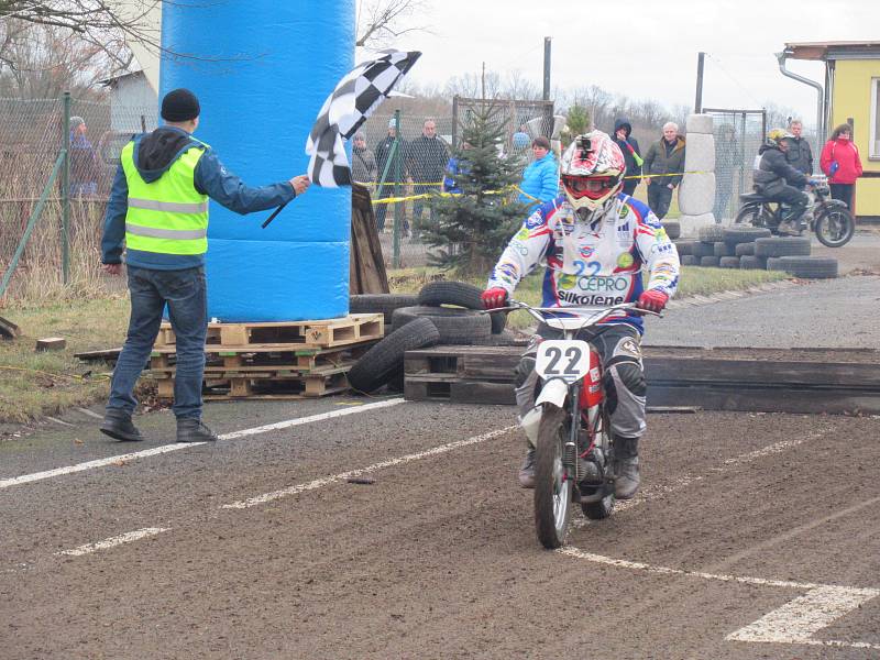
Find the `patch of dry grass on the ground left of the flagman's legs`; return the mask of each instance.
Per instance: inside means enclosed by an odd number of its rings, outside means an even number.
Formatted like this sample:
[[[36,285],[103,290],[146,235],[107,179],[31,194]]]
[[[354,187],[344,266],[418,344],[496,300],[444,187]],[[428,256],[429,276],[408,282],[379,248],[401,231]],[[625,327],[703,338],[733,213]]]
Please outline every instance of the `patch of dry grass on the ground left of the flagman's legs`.
[[[2,316],[21,328],[0,341],[0,421],[23,422],[103,398],[110,366],[85,364],[74,353],[121,345],[129,320],[124,296],[47,304],[15,304]],[[36,353],[36,340],[63,337],[63,351]],[[90,376],[84,377],[86,372]]]

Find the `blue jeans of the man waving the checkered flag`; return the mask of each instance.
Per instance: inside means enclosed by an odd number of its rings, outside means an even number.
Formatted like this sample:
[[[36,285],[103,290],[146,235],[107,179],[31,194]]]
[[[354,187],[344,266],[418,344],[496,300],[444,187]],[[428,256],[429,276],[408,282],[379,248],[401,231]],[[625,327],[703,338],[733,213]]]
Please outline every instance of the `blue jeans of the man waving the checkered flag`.
[[[119,354],[107,409],[134,413],[134,386],[146,364],[168,305],[177,340],[174,378],[175,416],[201,418],[201,380],[205,373],[205,336],[208,332],[208,292],[205,268],[155,271],[129,266],[131,319],[125,345]]]

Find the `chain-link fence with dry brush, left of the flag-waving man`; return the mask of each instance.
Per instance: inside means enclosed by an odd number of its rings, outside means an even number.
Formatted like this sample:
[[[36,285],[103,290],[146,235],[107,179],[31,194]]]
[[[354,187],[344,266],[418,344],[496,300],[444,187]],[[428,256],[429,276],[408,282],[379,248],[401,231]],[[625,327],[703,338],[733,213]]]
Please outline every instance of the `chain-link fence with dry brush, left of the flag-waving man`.
[[[101,284],[101,223],[119,152],[156,116],[155,107],[0,99],[0,275],[13,296]]]

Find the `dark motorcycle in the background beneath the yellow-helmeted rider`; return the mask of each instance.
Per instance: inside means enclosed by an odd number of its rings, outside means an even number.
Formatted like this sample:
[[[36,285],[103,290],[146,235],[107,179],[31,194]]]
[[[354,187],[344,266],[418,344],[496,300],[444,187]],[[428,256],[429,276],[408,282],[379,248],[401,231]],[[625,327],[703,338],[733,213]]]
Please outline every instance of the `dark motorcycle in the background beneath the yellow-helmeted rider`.
[[[856,221],[846,204],[839,199],[828,199],[831,188],[825,178],[820,178],[817,185],[811,186],[810,193],[814,204],[806,210],[801,221],[806,220],[810,230],[816,232],[816,238],[823,245],[828,248],[846,245],[856,231]],[[751,224],[766,227],[774,234],[778,233],[779,223],[782,221],[781,204],[771,201],[759,193],[740,195],[739,201],[743,206],[734,220],[734,227]]]

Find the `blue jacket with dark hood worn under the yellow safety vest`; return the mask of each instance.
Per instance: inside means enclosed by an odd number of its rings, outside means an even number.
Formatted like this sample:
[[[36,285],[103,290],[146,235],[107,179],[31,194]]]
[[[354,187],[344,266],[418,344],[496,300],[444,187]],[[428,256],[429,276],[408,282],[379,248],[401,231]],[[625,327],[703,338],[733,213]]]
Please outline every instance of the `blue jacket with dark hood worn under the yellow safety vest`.
[[[158,179],[190,146],[204,146],[205,154],[199,158],[194,173],[196,190],[207,195],[230,211],[245,215],[264,211],[296,197],[293,186],[284,182],[252,188],[229,172],[213,150],[195,140],[189,133],[174,127],[162,127],[152,133],[135,135],[134,163],[138,173],[147,183]],[[122,243],[125,239],[125,213],[129,209],[129,183],[122,164],[117,168],[107,212],[103,218],[101,239],[101,262],[118,264],[122,261]],[[204,254],[161,254],[129,250],[125,263],[139,268],[158,271],[182,271],[205,264]]]

